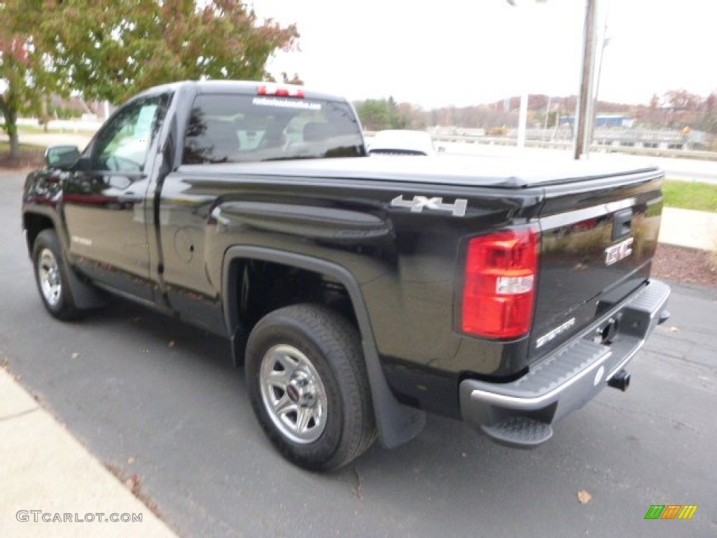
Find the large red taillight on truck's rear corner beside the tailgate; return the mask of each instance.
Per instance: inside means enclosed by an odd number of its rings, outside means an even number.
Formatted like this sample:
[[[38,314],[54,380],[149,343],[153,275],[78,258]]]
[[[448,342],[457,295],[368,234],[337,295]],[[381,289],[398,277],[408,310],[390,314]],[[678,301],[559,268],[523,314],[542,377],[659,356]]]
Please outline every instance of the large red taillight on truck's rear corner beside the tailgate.
[[[540,233],[506,230],[468,242],[461,329],[488,338],[516,338],[533,322]]]

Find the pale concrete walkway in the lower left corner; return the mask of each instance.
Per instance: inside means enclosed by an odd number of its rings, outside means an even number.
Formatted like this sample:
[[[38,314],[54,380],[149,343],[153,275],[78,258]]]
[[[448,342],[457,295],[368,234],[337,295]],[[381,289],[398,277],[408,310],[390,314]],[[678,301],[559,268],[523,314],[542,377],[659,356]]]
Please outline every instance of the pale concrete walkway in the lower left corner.
[[[2,368],[0,439],[0,536],[176,537]]]

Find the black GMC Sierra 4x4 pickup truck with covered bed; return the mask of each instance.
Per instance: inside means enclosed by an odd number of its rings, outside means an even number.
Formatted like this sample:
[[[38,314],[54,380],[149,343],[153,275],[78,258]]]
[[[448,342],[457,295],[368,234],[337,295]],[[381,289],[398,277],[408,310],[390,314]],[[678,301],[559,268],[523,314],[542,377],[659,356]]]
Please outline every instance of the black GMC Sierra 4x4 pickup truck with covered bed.
[[[670,288],[650,279],[659,169],[369,157],[346,100],[179,82],[27,177],[39,294],[106,292],[226,336],[290,461],[394,447],[425,412],[531,447],[632,359]]]

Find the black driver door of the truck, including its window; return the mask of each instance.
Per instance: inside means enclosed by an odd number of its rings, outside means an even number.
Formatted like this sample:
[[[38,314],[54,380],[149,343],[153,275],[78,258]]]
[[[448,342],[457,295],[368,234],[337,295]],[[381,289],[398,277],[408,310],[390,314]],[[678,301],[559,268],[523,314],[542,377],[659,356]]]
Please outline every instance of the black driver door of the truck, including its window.
[[[148,193],[156,138],[170,100],[153,95],[121,108],[65,180],[70,253],[84,273],[133,296],[153,300]],[[148,198],[149,196],[149,198]]]

